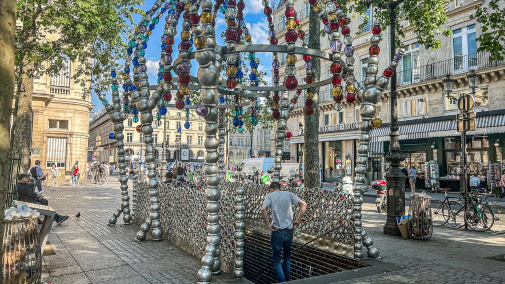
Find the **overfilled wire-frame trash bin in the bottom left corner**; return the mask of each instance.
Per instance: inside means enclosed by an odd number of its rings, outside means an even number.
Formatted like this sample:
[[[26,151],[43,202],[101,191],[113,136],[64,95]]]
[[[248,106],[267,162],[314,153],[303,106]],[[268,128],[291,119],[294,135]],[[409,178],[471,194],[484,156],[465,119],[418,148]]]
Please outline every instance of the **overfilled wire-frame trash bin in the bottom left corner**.
[[[40,283],[42,255],[37,219],[6,220],[2,255],[3,283]]]

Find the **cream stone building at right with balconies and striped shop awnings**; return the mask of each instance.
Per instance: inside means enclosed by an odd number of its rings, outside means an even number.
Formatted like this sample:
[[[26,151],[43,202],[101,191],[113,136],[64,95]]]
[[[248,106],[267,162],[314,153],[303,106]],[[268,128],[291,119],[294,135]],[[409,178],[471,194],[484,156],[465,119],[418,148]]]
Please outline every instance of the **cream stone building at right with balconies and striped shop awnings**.
[[[283,1],[275,3],[276,5],[272,8],[275,10],[273,18],[274,23],[277,24],[276,36],[279,44],[285,44],[284,34],[287,31],[285,7]],[[470,15],[477,7],[486,6],[487,3],[481,0],[445,2],[444,7],[448,19],[440,28],[441,30],[450,29],[452,36],[437,35],[442,46],[436,50],[426,49],[419,45],[414,27],[409,26],[406,21],[402,22],[406,36],[401,39],[401,43],[405,46],[406,53],[396,70],[396,82],[400,144],[406,156],[403,166],[408,168],[422,166],[424,162],[433,160],[439,165],[440,176],[456,172],[458,165],[461,165],[460,157],[457,157],[461,139],[458,143],[459,132],[453,132],[456,130],[455,117],[458,113],[456,101],[461,94],[471,91],[466,76],[472,70],[479,74],[479,84],[475,94],[477,132],[467,141],[471,148],[474,148],[468,159],[472,161],[471,166],[479,174],[485,172],[489,161],[495,162],[502,159],[503,142],[501,141],[505,139],[503,134],[505,129],[501,128],[505,123],[503,120],[505,101],[500,98],[505,95],[505,62],[490,60],[488,53],[477,52],[476,38],[481,33],[481,27],[475,20],[470,19]],[[295,0],[294,8],[300,25],[310,41],[310,38],[314,36],[308,34],[310,6],[307,1]],[[349,27],[355,47],[354,75],[359,82],[362,82],[369,57],[374,9],[371,8],[365,14],[356,15],[356,17],[348,16],[351,18]],[[368,24],[358,34],[359,25],[364,22]],[[389,37],[387,29],[382,32],[382,37],[379,44],[381,54],[378,75],[381,75],[382,70],[389,64],[390,46],[387,40]],[[297,45],[301,45],[300,40],[297,41]],[[321,46],[323,51],[331,53],[327,37],[321,38]],[[343,49],[342,58],[345,58]],[[285,55],[279,54],[279,60],[281,61],[279,76],[283,78]],[[321,80],[331,77],[330,65],[331,62],[321,62]],[[305,81],[304,61],[300,56],[296,68],[298,82]],[[456,80],[451,98],[446,97],[442,85],[442,79],[446,75]],[[290,92],[290,98],[292,96],[293,93]],[[387,166],[384,156],[388,152],[389,145],[389,96],[390,91],[386,89],[381,101],[377,104],[376,117],[382,119],[383,126],[374,129],[371,133],[370,165],[367,173],[369,181],[381,178],[384,167]],[[340,112],[335,111],[331,85],[320,88],[319,104],[319,156],[324,180],[337,181],[343,175],[354,176],[360,106],[356,103],[344,103],[344,108]],[[293,133],[289,141],[291,153],[297,153],[303,148],[304,133],[300,125],[304,124],[304,105],[305,97],[302,94],[288,121],[288,128]],[[294,158],[292,161],[298,161],[297,155],[291,156]]]

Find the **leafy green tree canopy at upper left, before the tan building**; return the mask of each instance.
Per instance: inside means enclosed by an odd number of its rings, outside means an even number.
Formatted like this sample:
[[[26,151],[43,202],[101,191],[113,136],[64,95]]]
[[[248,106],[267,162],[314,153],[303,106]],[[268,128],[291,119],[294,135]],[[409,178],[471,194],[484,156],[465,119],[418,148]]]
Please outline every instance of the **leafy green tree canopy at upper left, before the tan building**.
[[[55,74],[66,59],[77,64],[73,79],[105,90],[107,74],[120,68],[135,6],[143,0],[24,0],[17,2],[16,79]],[[33,69],[27,69],[31,66]]]

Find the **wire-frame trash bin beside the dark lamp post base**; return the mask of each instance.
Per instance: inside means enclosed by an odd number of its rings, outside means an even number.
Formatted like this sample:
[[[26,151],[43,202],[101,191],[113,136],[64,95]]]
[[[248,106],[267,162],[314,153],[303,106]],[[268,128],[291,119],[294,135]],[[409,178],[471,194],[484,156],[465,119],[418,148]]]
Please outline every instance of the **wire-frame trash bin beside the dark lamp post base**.
[[[409,234],[411,238],[429,240],[433,233],[430,196],[426,195],[424,192],[422,194],[411,194],[409,215],[411,216],[409,226]]]

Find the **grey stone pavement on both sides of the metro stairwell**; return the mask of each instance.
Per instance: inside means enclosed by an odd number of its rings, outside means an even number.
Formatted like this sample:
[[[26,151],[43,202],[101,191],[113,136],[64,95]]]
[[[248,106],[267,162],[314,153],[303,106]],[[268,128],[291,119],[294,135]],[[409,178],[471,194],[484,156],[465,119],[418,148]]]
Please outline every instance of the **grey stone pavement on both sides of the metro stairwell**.
[[[43,280],[55,284],[195,283],[199,259],[166,241],[133,241],[138,227],[122,225],[121,219],[115,226],[107,225],[120,203],[117,177],[109,179],[100,186],[44,188],[49,205],[70,218],[49,235],[54,254],[43,257]],[[334,283],[505,282],[505,262],[489,259],[505,254],[505,235],[442,227],[434,229],[429,241],[404,240],[382,233],[386,216],[377,214],[374,204],[363,208],[363,225],[381,251],[380,261],[399,269],[341,281],[335,274]],[[77,212],[80,220],[74,217]],[[231,281],[226,274],[213,277],[214,283]],[[316,279],[306,282],[317,283]]]

